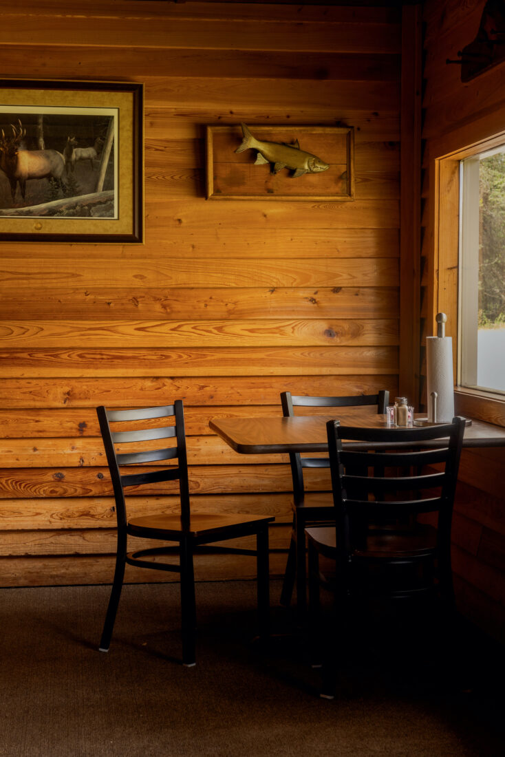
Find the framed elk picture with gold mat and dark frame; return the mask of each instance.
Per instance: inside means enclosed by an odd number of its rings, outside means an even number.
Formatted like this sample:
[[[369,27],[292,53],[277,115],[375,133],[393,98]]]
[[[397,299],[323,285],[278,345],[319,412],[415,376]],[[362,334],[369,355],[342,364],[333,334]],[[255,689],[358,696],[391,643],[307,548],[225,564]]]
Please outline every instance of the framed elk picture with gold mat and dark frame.
[[[142,84],[0,79],[0,240],[143,241]]]

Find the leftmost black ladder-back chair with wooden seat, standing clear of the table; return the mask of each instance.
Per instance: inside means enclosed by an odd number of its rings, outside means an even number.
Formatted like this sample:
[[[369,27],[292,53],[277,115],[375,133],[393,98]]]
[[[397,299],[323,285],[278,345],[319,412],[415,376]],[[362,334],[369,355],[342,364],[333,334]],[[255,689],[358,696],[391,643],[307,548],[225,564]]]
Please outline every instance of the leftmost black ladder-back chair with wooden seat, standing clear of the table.
[[[182,662],[195,665],[195,577],[193,554],[196,550],[210,550],[257,556],[257,607],[260,637],[269,631],[269,552],[268,524],[272,516],[194,514],[190,512],[188,464],[186,459],[184,411],[182,400],[167,407],[148,407],[140,410],[106,410],[97,408],[101,436],[104,441],[111,472],[117,514],[117,557],[111,599],[101,636],[100,650],[107,652],[111,643],[114,620],[120,601],[125,565],[180,573]],[[126,431],[116,430],[117,425]],[[111,430],[111,424],[114,430]],[[173,440],[173,444],[167,440]],[[153,441],[154,444],[146,444]],[[117,452],[117,447],[124,450]],[[149,447],[149,450],[146,449]],[[158,467],[170,460],[169,466]],[[143,466],[151,463],[148,469]],[[175,464],[176,463],[176,464]],[[154,468],[152,466],[155,466]],[[134,466],[125,473],[123,466]],[[125,488],[149,488],[163,481],[178,481],[180,513],[169,515],[126,516]],[[151,490],[152,491],[152,490]],[[172,492],[170,491],[170,494]],[[218,541],[256,535],[257,549],[236,547],[205,547]],[[126,553],[127,537],[160,539],[176,542],[176,546],[152,547]],[[163,556],[178,554],[179,562],[164,562]]]

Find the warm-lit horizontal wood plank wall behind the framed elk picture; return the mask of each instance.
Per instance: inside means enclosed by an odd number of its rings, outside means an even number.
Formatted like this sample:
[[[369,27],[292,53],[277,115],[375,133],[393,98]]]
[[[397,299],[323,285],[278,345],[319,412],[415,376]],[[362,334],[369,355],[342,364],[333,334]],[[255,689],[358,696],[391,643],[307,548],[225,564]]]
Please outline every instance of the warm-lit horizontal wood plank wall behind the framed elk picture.
[[[286,389],[397,391],[401,15],[134,0],[0,10],[3,76],[145,83],[145,245],[0,242],[0,583],[111,581],[95,407],[177,397],[195,510],[273,513],[279,575],[288,460],[239,456],[208,422],[279,415]],[[205,126],[240,121],[354,126],[354,201],[206,201]],[[310,489],[328,485],[309,472]],[[152,494],[135,514],[176,506],[170,489]],[[127,579],[167,580],[145,573]],[[198,562],[199,578],[252,575],[245,558]]]

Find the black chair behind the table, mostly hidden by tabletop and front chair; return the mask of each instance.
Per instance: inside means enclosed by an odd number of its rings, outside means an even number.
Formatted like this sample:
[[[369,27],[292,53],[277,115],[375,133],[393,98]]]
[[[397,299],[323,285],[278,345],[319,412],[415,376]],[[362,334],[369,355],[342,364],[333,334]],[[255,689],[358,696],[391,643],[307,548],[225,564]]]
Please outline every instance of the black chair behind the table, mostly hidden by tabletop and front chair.
[[[377,413],[385,413],[388,407],[389,392],[378,394],[360,394],[352,397],[300,397],[289,391],[281,394],[282,414],[285,417],[295,415],[295,407],[366,407],[377,406]],[[303,615],[307,609],[307,572],[305,568],[305,528],[311,523],[327,522],[334,518],[333,497],[331,492],[307,494],[304,488],[304,468],[329,468],[326,457],[306,457],[295,452],[289,455],[291,477],[293,479],[293,528],[289,544],[288,562],[282,584],[281,604],[291,603],[293,588],[297,589],[297,608]]]

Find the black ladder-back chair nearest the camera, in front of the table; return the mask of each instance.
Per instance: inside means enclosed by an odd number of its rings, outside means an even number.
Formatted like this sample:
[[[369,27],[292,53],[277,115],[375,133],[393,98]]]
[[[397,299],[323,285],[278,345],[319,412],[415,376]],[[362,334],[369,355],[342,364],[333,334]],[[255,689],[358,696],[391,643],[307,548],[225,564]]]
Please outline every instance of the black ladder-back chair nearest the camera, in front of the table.
[[[335,593],[321,696],[334,696],[335,656],[346,649],[341,637],[353,609],[369,597],[431,596],[452,611],[450,527],[464,428],[463,418],[408,429],[327,423],[335,525],[306,530],[313,637],[321,622],[320,585]],[[357,469],[368,475],[354,475]],[[382,518],[407,519],[408,525],[382,529]],[[331,581],[320,572],[320,556],[335,566]]]

